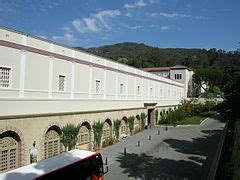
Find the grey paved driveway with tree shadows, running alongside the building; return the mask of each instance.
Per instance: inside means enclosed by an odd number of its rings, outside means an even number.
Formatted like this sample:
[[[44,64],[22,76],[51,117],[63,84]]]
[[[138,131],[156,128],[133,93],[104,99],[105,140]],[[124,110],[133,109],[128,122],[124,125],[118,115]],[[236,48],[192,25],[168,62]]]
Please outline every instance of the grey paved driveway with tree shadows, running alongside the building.
[[[108,158],[105,179],[205,179],[224,126],[216,116],[201,126],[154,127],[127,137],[101,150]]]

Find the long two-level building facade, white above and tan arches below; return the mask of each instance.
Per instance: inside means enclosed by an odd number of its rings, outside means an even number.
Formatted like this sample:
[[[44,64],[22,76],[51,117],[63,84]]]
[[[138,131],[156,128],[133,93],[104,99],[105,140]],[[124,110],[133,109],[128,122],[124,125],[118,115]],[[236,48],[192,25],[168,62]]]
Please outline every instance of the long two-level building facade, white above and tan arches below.
[[[129,134],[127,118],[154,125],[185,98],[184,84],[52,41],[0,27],[0,172],[61,153],[61,128],[80,125],[77,147],[93,149],[94,122],[103,139]],[[156,111],[157,110],[157,111]],[[157,112],[157,113],[156,113]]]

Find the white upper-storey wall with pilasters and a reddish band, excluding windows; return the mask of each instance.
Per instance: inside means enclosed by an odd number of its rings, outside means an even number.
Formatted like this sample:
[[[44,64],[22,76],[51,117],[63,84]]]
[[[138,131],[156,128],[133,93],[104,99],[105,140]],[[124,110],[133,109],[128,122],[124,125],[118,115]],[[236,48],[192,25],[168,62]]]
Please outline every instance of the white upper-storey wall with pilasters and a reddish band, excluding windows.
[[[12,74],[11,86],[0,89],[0,116],[176,105],[184,96],[174,93],[184,91],[182,83],[102,57],[6,29],[0,29],[0,37],[0,67],[11,67]],[[65,76],[64,91],[58,89],[59,75]]]

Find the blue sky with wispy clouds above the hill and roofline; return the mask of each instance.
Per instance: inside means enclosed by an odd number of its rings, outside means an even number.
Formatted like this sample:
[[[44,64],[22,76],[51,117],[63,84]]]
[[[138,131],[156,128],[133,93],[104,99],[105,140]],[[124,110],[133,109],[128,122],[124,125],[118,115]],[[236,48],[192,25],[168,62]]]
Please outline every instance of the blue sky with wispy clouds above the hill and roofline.
[[[239,0],[0,0],[0,25],[67,46],[236,50]]]

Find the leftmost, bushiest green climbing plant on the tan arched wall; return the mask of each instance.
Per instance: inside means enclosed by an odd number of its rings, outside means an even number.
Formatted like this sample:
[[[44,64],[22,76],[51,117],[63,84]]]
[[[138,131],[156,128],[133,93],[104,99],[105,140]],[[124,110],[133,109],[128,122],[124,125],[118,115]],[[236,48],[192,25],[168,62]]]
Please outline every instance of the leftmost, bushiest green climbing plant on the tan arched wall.
[[[65,149],[71,150],[75,147],[77,143],[77,135],[79,133],[80,126],[75,126],[73,124],[67,124],[64,126],[62,130],[62,139],[61,142],[63,143]]]

